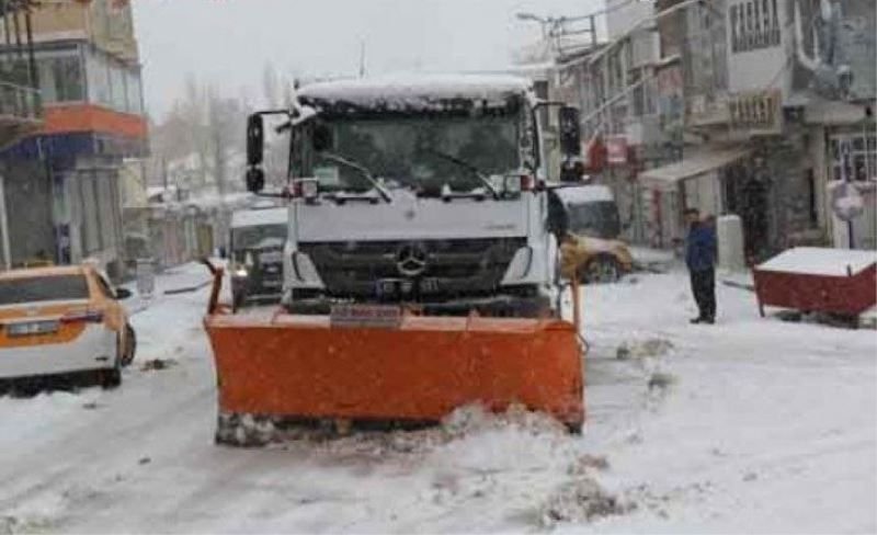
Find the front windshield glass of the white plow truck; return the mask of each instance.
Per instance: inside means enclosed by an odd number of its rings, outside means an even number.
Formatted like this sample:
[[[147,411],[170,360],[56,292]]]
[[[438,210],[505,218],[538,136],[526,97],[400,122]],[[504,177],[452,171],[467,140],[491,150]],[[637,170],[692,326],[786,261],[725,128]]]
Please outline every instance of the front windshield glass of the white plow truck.
[[[454,191],[475,190],[483,184],[474,169],[491,175],[520,166],[513,116],[342,117],[327,125],[332,132],[331,152],[356,161],[388,186],[409,186],[420,194],[437,194],[445,184]],[[326,190],[369,189],[358,171],[319,155],[312,172]]]

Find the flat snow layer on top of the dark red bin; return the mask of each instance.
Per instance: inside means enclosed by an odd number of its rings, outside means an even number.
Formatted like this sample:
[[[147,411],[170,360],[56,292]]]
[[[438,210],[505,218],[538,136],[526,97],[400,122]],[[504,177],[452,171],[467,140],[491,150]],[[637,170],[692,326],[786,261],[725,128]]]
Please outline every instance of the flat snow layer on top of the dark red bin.
[[[756,270],[846,276],[847,266],[852,273],[858,273],[874,263],[877,263],[876,251],[796,247],[758,265]]]

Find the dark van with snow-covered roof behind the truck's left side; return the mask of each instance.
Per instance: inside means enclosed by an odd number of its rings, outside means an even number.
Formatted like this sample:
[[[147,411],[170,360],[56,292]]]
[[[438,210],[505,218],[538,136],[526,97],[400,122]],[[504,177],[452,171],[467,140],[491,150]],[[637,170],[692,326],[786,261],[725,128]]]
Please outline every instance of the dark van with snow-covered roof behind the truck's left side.
[[[276,207],[232,214],[229,264],[236,309],[251,301],[280,300],[287,218],[286,208]]]

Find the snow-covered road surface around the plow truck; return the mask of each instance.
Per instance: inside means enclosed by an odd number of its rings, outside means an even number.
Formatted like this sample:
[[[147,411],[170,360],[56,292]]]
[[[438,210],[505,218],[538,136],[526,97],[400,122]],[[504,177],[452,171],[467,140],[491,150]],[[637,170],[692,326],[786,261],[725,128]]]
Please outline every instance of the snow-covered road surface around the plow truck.
[[[718,291],[714,327],[687,323],[684,273],[583,291],[582,436],[471,409],[264,449],[213,444],[207,289],[160,297],[133,318],[118,390],[0,398],[0,534],[877,531],[875,332],[761,319]]]

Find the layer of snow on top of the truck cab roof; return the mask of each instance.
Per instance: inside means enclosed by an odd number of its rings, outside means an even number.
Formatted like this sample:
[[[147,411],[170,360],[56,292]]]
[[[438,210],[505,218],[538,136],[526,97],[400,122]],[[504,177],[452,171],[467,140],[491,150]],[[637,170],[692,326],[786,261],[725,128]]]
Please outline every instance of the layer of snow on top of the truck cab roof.
[[[305,86],[305,101],[345,102],[356,105],[400,103],[406,107],[442,100],[502,101],[524,94],[531,82],[509,75],[418,75],[335,80]]]

